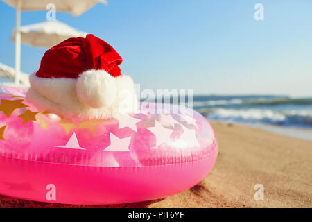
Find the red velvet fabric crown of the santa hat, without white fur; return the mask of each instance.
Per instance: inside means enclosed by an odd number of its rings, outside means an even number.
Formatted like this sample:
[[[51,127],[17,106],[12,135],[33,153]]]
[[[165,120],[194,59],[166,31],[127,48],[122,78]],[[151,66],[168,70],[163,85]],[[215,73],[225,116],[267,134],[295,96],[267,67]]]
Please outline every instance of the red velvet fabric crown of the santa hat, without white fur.
[[[121,76],[121,56],[110,44],[95,37],[72,37],[44,53],[36,73],[42,78],[78,78],[89,69],[103,69],[111,76]]]

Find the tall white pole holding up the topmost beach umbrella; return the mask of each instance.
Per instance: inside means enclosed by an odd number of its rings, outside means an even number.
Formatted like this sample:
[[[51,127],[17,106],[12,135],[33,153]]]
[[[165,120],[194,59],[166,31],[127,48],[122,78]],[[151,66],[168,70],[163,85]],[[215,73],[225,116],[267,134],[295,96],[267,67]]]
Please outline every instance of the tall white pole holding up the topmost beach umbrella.
[[[15,22],[15,85],[19,85],[21,70],[21,0],[17,1]]]

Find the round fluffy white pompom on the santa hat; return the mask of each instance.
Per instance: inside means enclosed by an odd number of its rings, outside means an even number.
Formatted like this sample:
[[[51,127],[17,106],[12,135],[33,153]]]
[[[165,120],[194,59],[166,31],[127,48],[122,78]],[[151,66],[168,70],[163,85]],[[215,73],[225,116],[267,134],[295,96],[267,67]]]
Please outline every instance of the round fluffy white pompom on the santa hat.
[[[78,99],[92,108],[110,107],[116,100],[116,79],[103,70],[80,74],[76,83]]]

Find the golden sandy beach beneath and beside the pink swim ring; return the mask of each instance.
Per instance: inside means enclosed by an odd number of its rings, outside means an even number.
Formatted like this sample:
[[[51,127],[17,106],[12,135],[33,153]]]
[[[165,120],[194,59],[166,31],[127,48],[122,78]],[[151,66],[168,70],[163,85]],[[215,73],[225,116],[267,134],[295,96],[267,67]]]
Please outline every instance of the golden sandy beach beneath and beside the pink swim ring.
[[[0,196],[0,207],[312,207],[312,142],[236,124],[212,123],[214,169],[198,185],[162,200],[123,205],[58,205]],[[254,200],[254,185],[264,187]]]

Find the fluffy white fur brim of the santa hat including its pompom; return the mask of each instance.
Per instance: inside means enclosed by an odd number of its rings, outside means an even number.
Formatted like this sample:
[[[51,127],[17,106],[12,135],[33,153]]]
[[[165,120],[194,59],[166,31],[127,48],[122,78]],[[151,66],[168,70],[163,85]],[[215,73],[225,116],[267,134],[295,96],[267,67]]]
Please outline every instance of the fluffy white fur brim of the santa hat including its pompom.
[[[137,110],[137,96],[130,76],[112,77],[103,70],[89,70],[73,78],[29,77],[26,99],[40,110],[63,117],[105,119]]]

